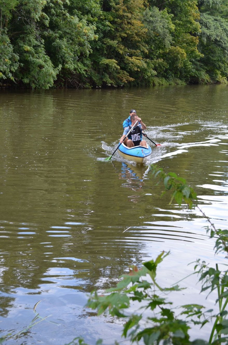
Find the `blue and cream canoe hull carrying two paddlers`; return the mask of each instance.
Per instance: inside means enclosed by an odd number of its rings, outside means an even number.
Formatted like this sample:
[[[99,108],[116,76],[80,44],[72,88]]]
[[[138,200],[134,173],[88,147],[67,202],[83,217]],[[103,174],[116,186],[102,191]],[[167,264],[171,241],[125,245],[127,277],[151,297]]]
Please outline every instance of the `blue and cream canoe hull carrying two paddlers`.
[[[149,159],[151,155],[151,147],[146,144],[147,147],[144,146],[134,146],[134,147],[127,147],[122,143],[118,151],[120,155],[127,159],[133,160],[136,163],[143,163],[144,161]]]

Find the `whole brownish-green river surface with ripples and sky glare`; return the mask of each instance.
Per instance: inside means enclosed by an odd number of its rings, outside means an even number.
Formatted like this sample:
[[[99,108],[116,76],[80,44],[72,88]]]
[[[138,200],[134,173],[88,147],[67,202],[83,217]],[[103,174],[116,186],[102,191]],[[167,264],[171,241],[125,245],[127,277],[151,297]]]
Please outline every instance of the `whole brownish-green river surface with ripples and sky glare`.
[[[162,145],[148,141],[152,156],[142,166],[117,152],[105,162],[131,108]],[[1,91],[0,336],[28,326],[40,300],[36,311],[51,315],[6,344],[63,345],[80,335],[113,344],[122,322],[85,309],[86,293],[115,285],[128,265],[162,250],[171,250],[158,273],[165,286],[191,273],[196,258],[224,262],[204,217],[168,206],[148,167],[186,178],[216,227],[227,228],[227,109],[224,85]],[[183,282],[181,303],[203,303],[196,281]],[[213,298],[204,304],[214,308]]]

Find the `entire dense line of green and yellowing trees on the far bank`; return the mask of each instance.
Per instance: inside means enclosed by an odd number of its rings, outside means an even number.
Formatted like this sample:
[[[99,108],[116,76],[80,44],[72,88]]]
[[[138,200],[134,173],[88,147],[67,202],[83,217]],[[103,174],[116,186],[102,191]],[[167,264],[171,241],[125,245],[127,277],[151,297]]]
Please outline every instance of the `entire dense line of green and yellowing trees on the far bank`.
[[[228,0],[0,0],[0,85],[228,78]]]

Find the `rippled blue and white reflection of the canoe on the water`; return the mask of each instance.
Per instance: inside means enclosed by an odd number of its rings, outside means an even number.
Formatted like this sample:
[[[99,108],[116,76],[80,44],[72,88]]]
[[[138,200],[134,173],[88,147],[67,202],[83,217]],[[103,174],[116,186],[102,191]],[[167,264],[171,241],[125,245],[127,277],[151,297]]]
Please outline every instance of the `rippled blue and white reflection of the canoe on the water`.
[[[149,171],[149,166],[143,166],[143,165],[134,166],[134,165],[122,162],[121,170],[118,169],[119,179],[125,180],[125,182],[122,183],[122,187],[131,188],[135,192],[138,192],[144,186],[144,180],[148,179],[147,177],[148,171]],[[137,195],[137,194],[128,196],[128,198],[130,198],[130,200],[133,203],[137,203],[140,197],[141,195]]]

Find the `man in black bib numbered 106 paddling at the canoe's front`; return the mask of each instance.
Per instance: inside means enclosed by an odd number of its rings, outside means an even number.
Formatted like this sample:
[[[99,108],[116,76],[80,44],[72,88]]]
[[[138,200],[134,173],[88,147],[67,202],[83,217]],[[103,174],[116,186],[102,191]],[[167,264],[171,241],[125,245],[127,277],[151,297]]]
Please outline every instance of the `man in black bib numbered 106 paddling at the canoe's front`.
[[[131,133],[129,134],[129,137],[126,137],[126,139],[124,140],[124,144],[127,147],[134,147],[134,146],[144,146],[147,147],[146,145],[146,141],[142,140],[142,131],[144,129],[146,129],[146,125],[144,125],[142,123],[142,120],[138,118],[138,116],[135,115],[131,115],[131,125],[126,127],[124,129],[123,135],[120,138],[120,142],[123,142],[123,138],[125,137],[125,135],[129,132],[129,130],[133,127],[133,130],[131,131]],[[136,122],[139,122],[136,124]]]

